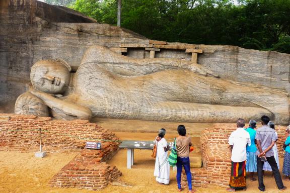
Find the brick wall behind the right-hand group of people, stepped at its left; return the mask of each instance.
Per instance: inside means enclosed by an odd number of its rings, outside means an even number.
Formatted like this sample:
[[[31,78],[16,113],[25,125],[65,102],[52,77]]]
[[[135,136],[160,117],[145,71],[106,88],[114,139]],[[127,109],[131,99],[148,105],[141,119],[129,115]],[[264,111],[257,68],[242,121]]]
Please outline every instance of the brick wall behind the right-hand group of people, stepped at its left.
[[[231,150],[228,139],[236,124],[214,124],[201,133],[200,147],[202,153],[202,168],[191,168],[192,185],[206,187],[207,185],[228,186],[231,175]],[[286,127],[275,126],[278,134],[276,142],[279,157],[283,156],[284,131]],[[182,185],[187,185],[186,175],[182,174]]]

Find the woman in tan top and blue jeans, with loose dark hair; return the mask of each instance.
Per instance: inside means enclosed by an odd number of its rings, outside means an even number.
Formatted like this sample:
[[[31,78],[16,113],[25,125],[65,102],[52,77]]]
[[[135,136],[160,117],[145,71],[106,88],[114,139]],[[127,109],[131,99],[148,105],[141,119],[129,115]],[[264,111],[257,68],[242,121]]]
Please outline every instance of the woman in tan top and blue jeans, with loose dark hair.
[[[179,125],[177,128],[177,132],[179,134],[179,136],[176,138],[176,151],[177,151],[176,179],[178,190],[179,192],[181,191],[181,172],[183,166],[186,173],[189,192],[195,192],[196,190],[192,189],[190,162],[189,162],[189,148],[192,145],[191,138],[186,136],[186,129],[184,125]]]

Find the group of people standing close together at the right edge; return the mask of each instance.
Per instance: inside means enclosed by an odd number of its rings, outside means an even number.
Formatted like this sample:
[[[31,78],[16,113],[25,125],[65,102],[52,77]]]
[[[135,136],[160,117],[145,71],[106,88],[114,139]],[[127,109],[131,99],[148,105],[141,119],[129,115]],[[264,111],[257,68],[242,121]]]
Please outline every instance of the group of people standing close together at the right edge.
[[[246,172],[250,172],[250,181],[256,181],[254,172],[258,175],[258,189],[265,191],[263,181],[264,171],[272,171],[272,176],[279,190],[285,190],[282,177],[279,172],[279,158],[275,142],[278,139],[275,124],[269,117],[261,117],[262,127],[256,128],[256,121],[250,120],[249,127],[245,127],[245,120],[237,120],[237,130],[229,137],[232,150],[232,169],[228,191],[246,189]],[[285,131],[285,154],[282,173],[284,180],[290,180],[290,137],[289,128]]]

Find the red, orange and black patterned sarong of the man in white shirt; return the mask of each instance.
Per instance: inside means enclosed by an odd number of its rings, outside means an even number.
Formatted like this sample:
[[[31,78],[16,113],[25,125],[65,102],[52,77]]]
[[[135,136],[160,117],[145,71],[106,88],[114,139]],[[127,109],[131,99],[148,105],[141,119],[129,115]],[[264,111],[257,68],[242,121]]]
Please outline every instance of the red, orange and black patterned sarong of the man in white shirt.
[[[246,187],[246,161],[232,161],[230,187],[234,189],[243,189]]]

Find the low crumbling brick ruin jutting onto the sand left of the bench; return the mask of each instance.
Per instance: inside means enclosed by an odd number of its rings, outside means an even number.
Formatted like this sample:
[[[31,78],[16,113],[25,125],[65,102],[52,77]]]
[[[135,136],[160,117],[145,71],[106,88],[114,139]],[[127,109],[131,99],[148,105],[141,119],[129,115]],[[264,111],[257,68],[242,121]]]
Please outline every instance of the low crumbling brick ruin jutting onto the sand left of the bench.
[[[102,145],[106,150],[116,149],[118,145],[107,143]],[[66,164],[49,182],[52,187],[76,187],[79,189],[99,190],[106,187],[122,173],[116,166],[106,162],[112,153],[100,150],[84,149],[75,159]]]

